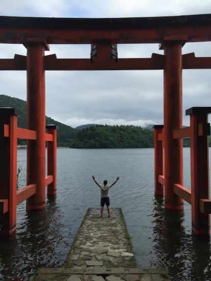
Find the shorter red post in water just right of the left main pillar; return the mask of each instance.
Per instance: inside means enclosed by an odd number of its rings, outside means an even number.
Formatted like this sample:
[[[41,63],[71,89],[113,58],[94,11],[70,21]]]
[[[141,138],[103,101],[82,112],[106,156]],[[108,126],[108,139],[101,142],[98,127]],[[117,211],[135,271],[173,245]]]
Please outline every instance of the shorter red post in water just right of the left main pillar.
[[[47,195],[57,194],[57,129],[47,129],[54,141],[47,142],[47,175],[52,175],[53,182],[47,186]]]

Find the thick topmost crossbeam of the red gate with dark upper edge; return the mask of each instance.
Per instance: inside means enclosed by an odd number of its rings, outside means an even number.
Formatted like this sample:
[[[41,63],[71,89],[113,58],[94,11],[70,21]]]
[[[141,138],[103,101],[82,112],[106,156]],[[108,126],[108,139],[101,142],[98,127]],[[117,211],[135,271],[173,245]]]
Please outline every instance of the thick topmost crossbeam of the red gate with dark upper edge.
[[[28,37],[45,38],[48,44],[97,44],[100,40],[110,40],[111,44],[161,43],[163,38],[167,36],[188,36],[188,42],[210,41],[210,16],[206,15],[206,19],[205,15],[195,16],[198,16],[197,20],[189,22],[184,18],[176,21],[175,17],[153,19],[78,18],[75,19],[75,23],[71,22],[68,25],[63,24],[65,20],[60,18],[55,19],[57,22],[52,25],[50,19],[42,24],[40,23],[42,19],[34,18],[34,24],[31,24],[31,26],[29,24],[30,18],[18,20],[17,17],[18,24],[12,24],[11,22],[8,24],[8,19],[5,20],[6,24],[1,24],[0,43],[20,44],[22,38]],[[186,16],[186,18],[188,17],[191,16]],[[11,18],[14,19],[14,17]],[[100,24],[100,26],[99,20],[107,21],[107,23]],[[124,23],[126,21],[129,21],[129,23]]]

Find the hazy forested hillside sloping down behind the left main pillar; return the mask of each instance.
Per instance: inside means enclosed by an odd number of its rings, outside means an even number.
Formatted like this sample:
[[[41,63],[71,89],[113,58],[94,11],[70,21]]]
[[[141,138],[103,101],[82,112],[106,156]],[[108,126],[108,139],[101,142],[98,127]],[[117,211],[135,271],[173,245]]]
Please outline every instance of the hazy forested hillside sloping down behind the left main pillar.
[[[27,128],[27,102],[21,99],[12,98],[6,95],[0,95],[0,107],[14,107],[21,111],[22,115],[18,117],[18,127]],[[70,140],[78,132],[70,126],[57,122],[50,117],[45,117],[46,125],[54,124],[59,126],[57,131],[57,146],[68,147]],[[18,144],[25,144],[25,140],[18,139]]]

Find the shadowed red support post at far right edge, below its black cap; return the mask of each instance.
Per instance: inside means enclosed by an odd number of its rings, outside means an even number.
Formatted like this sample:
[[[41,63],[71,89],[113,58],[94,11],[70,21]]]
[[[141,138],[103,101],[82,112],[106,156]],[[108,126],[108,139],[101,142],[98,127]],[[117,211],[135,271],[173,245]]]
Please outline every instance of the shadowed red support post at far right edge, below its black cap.
[[[191,204],[192,230],[197,235],[210,234],[209,214],[200,212],[199,200],[209,200],[208,136],[198,135],[198,125],[208,121],[208,115],[193,115],[191,119]]]

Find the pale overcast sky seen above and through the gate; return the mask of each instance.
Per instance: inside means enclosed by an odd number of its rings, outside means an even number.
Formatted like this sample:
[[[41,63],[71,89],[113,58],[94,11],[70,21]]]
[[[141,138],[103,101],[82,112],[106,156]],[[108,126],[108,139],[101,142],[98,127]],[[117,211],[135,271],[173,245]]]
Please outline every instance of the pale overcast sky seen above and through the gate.
[[[0,15],[30,17],[149,17],[211,13],[210,0],[0,0]],[[158,44],[118,44],[119,58],[150,58]],[[211,42],[187,43],[182,52],[211,57]],[[0,58],[26,55],[22,45],[0,44]],[[50,45],[58,58],[90,58],[90,45]],[[2,71],[0,94],[27,99],[25,71]],[[185,110],[211,106],[211,70],[183,71]],[[163,124],[163,71],[46,71],[46,116],[76,127]]]

